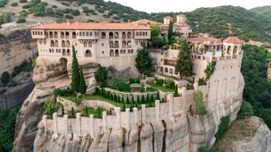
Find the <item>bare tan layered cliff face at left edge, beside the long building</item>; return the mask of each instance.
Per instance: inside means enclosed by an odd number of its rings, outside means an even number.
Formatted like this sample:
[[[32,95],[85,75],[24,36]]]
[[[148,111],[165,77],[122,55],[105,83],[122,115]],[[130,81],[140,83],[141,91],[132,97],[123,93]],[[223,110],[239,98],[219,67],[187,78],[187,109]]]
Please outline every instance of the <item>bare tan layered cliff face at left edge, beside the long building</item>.
[[[31,39],[27,29],[11,31],[8,35],[0,34],[0,74],[11,73],[14,66],[38,55],[36,41]]]

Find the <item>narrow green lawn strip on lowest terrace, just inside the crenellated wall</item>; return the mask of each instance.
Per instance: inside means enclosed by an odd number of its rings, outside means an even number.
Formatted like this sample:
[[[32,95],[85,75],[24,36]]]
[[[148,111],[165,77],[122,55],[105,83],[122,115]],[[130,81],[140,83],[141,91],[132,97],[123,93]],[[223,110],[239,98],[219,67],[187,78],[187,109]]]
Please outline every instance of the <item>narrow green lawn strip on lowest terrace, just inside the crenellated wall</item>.
[[[74,98],[76,98],[76,94],[72,94],[70,96],[61,96],[61,98],[66,98],[67,100],[73,101]],[[154,96],[155,98],[155,96]],[[136,101],[137,98],[135,98]],[[140,98],[141,99],[141,98]],[[79,97],[79,100],[83,101],[83,96]],[[123,108],[123,103],[118,103],[115,101],[111,101],[108,98],[104,98],[103,96],[98,96],[95,94],[86,94],[85,95],[85,101],[86,100],[98,100],[98,101],[106,101],[107,103],[111,103],[113,106],[117,106],[117,107],[121,107]],[[146,100],[146,98],[145,98]],[[124,101],[126,101],[126,98],[124,98]],[[141,104],[145,104],[146,107],[150,107],[149,103],[138,103],[138,108],[141,108]],[[131,103],[130,104],[125,104],[126,108],[131,108]],[[133,106],[135,106],[135,104],[133,104]],[[155,106],[155,102],[152,103],[151,107]]]

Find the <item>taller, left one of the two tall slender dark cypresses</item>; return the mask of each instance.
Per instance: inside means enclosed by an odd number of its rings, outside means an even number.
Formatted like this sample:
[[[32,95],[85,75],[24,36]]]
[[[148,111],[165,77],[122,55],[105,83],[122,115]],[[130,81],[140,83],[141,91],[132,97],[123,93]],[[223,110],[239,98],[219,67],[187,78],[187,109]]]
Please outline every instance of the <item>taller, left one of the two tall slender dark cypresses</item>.
[[[73,62],[71,65],[71,90],[76,92],[78,98],[79,84],[80,84],[80,74],[79,74],[79,64],[76,58],[76,49],[73,46]]]

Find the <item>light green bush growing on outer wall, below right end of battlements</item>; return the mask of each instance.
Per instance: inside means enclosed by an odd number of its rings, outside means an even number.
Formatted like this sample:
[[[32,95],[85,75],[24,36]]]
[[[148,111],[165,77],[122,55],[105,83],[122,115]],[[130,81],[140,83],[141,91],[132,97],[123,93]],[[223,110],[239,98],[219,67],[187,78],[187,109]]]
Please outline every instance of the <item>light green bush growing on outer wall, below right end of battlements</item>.
[[[203,93],[201,91],[197,91],[195,93],[195,112],[199,115],[205,115],[208,113],[204,103],[203,103]]]

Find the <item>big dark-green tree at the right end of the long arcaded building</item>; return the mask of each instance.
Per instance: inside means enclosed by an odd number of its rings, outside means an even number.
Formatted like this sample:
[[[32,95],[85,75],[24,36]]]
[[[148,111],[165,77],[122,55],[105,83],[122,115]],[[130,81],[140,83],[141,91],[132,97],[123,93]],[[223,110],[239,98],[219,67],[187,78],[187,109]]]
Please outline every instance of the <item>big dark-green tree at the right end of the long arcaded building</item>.
[[[150,53],[147,45],[143,43],[136,56],[136,68],[140,74],[150,74],[151,66]]]

